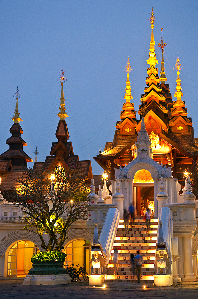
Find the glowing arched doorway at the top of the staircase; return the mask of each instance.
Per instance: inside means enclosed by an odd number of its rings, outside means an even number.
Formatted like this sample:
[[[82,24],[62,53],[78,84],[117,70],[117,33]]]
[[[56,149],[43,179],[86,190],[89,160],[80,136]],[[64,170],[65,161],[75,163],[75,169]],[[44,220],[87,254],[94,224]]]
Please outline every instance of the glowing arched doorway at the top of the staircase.
[[[146,169],[138,170],[134,175],[133,198],[137,216],[140,216],[145,208],[149,208],[154,215],[154,181]]]

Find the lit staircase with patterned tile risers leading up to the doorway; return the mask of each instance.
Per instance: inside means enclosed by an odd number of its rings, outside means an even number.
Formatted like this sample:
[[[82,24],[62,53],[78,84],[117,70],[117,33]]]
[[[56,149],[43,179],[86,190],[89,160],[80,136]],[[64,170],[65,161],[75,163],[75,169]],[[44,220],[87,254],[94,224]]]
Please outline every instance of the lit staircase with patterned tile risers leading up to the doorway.
[[[120,254],[117,276],[114,275],[113,264],[110,261],[105,282],[131,282],[129,258],[131,253],[135,256],[137,250],[140,251],[144,260],[141,269],[141,281],[143,283],[154,282],[157,226],[158,219],[151,219],[150,230],[146,231],[145,220],[139,218],[134,220],[132,228],[129,227],[128,234],[125,234],[124,221],[120,219],[113,247],[113,249],[117,248]],[[134,282],[137,282],[137,276],[134,277]]]

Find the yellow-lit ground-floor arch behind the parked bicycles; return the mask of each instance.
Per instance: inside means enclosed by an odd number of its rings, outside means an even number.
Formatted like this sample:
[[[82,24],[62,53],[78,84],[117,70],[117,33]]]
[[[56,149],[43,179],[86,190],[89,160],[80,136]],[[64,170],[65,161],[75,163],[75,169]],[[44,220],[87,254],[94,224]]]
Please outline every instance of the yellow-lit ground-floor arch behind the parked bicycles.
[[[83,269],[90,273],[91,256],[90,256],[90,242],[84,239],[73,240],[65,246],[64,252],[66,253],[66,260],[68,266],[72,263],[74,268],[76,265],[83,266]]]

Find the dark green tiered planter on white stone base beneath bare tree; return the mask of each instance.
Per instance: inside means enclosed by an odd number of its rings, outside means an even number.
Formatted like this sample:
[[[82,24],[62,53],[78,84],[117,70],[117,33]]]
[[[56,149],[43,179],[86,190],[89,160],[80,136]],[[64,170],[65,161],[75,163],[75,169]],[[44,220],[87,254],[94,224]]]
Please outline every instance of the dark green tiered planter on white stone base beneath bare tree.
[[[55,285],[71,283],[63,262],[40,262],[32,260],[32,268],[24,278],[24,285]]]

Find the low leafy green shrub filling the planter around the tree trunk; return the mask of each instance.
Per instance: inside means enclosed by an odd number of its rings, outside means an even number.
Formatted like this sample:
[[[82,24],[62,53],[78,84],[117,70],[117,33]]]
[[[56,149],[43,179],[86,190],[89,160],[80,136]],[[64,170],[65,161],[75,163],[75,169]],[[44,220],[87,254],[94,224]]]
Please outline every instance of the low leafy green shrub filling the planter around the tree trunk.
[[[33,254],[31,261],[34,262],[64,262],[66,254],[54,250],[54,251],[41,251],[37,254]]]

